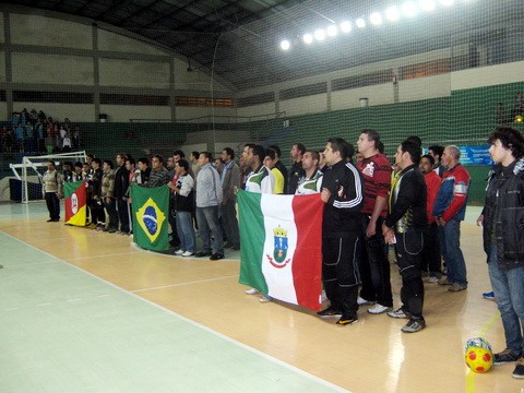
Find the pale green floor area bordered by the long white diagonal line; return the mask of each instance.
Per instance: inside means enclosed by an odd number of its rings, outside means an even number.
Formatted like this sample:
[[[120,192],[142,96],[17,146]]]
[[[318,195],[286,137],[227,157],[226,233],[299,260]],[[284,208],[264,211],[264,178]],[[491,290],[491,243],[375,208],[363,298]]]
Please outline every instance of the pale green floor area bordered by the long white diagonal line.
[[[0,250],[1,393],[342,391],[3,233]]]

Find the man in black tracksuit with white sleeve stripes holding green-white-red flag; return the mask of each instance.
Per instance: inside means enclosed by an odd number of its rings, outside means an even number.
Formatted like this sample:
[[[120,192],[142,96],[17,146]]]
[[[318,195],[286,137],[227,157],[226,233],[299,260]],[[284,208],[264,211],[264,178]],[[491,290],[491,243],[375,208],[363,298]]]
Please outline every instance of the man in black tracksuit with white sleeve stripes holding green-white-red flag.
[[[323,152],[327,165],[322,180],[321,199],[325,203],[322,224],[322,279],[331,306],[319,317],[341,315],[338,325],[355,323],[357,317],[357,246],[359,212],[364,184],[357,168],[346,163],[353,146],[341,138],[327,141]]]

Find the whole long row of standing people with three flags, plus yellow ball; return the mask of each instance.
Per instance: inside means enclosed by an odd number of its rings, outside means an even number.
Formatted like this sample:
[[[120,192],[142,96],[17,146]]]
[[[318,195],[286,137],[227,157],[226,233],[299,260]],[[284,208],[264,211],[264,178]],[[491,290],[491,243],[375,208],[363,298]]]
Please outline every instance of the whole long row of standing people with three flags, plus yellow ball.
[[[492,289],[484,297],[497,302],[507,343],[493,353],[485,338],[471,338],[465,361],[474,372],[514,364],[512,377],[522,379],[524,138],[499,126],[488,142],[495,165],[477,218]],[[48,222],[60,221],[66,198],[67,224],[132,235],[144,249],[211,261],[240,251],[247,295],[318,310],[338,326],[357,323],[367,307],[367,315],[405,320],[401,331],[417,333],[431,326],[425,285],[467,290],[460,238],[471,177],[457,146],[431,145],[422,155],[413,135],[388,157],[380,134],[365,129],[356,148],[331,138],[320,152],[295,143],[289,153],[289,168],[279,146],[251,143],[238,162],[230,147],[216,159],[210,152],[186,159],[176,151],[166,160],[119,153],[114,164],[87,155],[64,162],[61,172],[49,159]],[[398,308],[390,250],[402,278]]]

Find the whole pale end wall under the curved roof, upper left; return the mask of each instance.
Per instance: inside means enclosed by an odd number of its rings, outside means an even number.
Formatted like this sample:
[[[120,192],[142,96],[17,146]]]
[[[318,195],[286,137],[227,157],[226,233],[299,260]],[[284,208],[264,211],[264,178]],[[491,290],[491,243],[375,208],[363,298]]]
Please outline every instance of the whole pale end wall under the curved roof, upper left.
[[[2,13],[0,13],[2,15]],[[102,93],[112,94],[160,94],[164,96],[184,95],[229,97],[230,90],[217,81],[212,83],[209,74],[199,71],[199,64],[191,63],[193,71],[188,72],[184,58],[166,48],[155,46],[145,39],[118,34],[98,27],[97,49],[93,49],[94,27],[90,20],[71,15],[52,16],[32,15],[29,13],[9,12],[11,26],[12,81],[15,90],[46,88],[52,91],[82,91],[96,94],[99,82]],[[3,43],[3,17],[0,17],[0,43]],[[21,47],[26,45],[27,47]],[[68,48],[71,48],[71,55]],[[66,52],[64,52],[66,51]],[[98,75],[95,75],[94,59],[97,55]],[[120,57],[120,58],[118,58]],[[171,68],[171,62],[174,68]],[[5,59],[0,52],[0,83],[5,83]],[[171,84],[171,82],[174,82]],[[175,90],[175,92],[172,91]],[[153,93],[152,93],[153,92]],[[95,105],[70,105],[47,103],[13,103],[19,107],[43,109],[50,116],[73,121],[95,121]],[[0,118],[10,118],[7,104]],[[100,105],[99,112],[107,114],[110,121],[129,121],[131,118],[171,120],[171,107]],[[74,111],[79,110],[78,116]],[[211,108],[176,108],[179,119],[210,116]],[[215,114],[234,116],[235,108],[215,108]]]

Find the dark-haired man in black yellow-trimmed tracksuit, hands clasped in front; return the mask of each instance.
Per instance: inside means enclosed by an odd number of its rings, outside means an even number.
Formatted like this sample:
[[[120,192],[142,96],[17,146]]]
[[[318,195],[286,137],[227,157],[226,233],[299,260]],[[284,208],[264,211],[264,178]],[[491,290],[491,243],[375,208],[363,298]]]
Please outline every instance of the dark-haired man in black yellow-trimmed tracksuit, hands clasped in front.
[[[388,312],[391,318],[409,319],[402,332],[415,333],[426,327],[422,317],[424,284],[420,260],[427,230],[426,182],[418,168],[420,145],[404,141],[395,153],[401,169],[391,183],[390,213],[382,224],[389,245],[395,243],[396,262],[402,276],[402,307]]]

